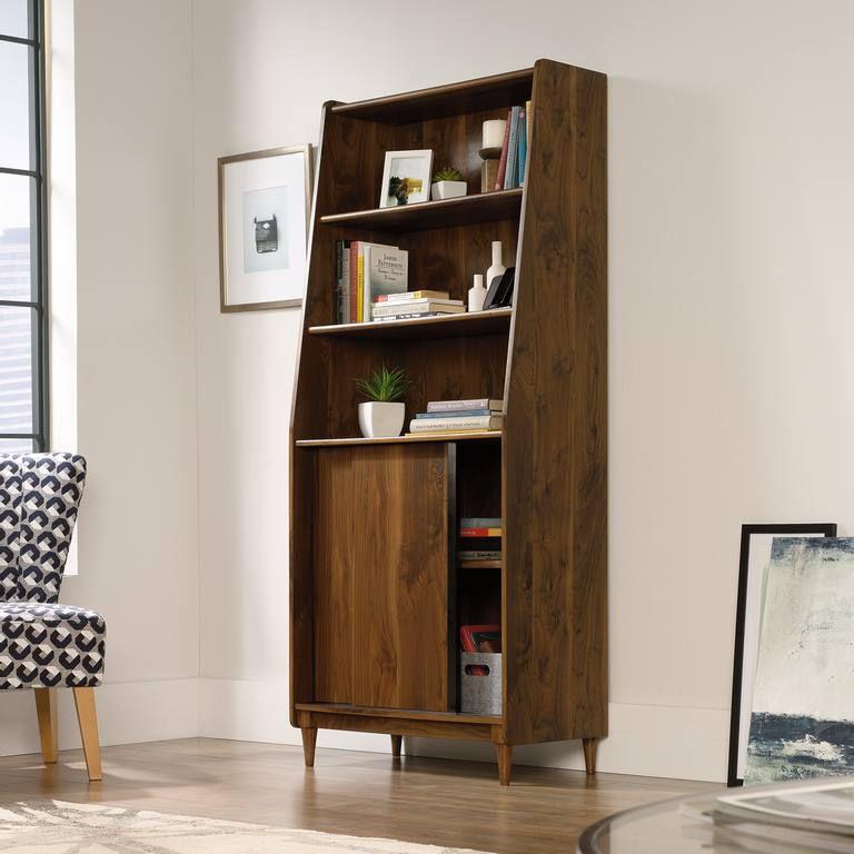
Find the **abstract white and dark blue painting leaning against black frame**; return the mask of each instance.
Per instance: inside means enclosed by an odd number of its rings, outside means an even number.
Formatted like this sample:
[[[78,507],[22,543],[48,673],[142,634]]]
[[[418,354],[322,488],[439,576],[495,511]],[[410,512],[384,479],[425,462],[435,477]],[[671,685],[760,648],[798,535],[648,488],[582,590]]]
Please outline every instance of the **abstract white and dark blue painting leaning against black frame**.
[[[775,538],[745,784],[854,774],[854,538]]]

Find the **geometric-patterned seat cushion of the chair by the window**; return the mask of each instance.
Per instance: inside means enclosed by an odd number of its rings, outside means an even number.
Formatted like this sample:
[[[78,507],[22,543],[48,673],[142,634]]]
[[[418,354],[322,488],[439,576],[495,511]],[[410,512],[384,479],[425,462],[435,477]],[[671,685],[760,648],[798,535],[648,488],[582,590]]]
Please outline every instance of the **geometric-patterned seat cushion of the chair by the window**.
[[[0,603],[0,691],[100,685],[105,636],[105,619],[93,610]]]

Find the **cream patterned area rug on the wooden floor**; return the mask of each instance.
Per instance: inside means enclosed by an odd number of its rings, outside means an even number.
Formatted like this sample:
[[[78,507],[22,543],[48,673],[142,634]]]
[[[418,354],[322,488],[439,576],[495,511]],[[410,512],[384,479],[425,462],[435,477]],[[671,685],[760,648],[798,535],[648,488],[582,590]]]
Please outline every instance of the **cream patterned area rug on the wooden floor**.
[[[477,854],[395,840],[339,836],[64,801],[0,806],[0,851],[9,854]]]

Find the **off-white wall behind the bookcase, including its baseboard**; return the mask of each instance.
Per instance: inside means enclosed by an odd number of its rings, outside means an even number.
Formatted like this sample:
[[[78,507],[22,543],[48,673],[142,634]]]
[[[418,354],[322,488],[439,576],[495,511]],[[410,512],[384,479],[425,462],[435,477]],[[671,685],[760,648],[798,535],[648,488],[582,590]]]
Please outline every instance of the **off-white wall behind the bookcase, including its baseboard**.
[[[398,50],[390,27],[415,40]],[[394,12],[193,0],[203,733],[295,738],[286,443],[299,317],[219,314],[216,158],[316,141],[327,99],[550,57],[609,75],[602,766],[723,778],[739,525],[854,522],[853,27],[843,0],[532,0],[523,14],[509,0]],[[380,737],[325,743],[387,749]],[[580,764],[574,745],[518,757]]]

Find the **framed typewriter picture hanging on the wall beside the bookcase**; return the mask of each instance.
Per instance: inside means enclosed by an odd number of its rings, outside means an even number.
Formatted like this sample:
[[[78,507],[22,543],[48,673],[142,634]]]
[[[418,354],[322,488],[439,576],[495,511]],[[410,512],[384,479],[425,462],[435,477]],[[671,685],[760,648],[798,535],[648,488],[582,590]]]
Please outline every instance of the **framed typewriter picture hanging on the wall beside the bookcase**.
[[[311,209],[311,147],[220,157],[222,311],[302,304]]]

